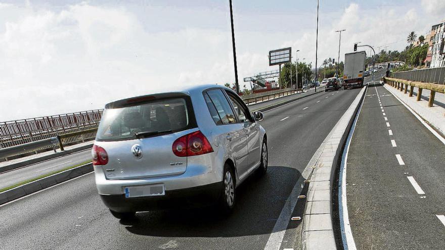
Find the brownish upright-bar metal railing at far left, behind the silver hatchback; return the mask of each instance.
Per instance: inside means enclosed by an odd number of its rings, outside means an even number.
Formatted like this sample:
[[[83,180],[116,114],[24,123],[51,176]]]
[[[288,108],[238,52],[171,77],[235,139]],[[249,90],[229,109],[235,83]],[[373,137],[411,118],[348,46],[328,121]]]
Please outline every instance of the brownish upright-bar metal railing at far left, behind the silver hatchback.
[[[97,128],[103,110],[0,122],[0,148]],[[94,135],[89,136],[90,138]],[[83,138],[82,140],[84,140]],[[74,142],[74,141],[72,141]]]

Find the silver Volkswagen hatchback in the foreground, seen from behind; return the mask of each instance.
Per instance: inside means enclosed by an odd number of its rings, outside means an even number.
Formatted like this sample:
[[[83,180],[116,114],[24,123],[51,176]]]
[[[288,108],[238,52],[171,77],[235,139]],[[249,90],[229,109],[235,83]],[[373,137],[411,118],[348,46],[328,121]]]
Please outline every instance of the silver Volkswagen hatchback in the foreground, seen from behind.
[[[262,118],[218,85],[107,104],[92,151],[102,201],[116,218],[214,204],[230,212],[236,187],[268,169]]]

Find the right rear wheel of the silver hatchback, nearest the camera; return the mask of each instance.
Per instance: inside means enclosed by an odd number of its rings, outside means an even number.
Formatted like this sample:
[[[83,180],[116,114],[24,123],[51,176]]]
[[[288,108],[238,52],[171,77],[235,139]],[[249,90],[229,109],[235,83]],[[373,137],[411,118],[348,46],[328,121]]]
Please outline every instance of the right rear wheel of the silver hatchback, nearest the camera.
[[[229,214],[233,211],[236,201],[235,175],[229,164],[224,165],[222,173],[222,188],[219,198],[219,208],[223,213]]]

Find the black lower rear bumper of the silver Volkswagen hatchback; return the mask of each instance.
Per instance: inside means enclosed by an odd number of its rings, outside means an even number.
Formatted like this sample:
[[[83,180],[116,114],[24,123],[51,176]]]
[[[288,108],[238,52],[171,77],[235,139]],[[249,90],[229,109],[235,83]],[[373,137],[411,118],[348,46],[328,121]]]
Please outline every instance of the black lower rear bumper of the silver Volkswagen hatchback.
[[[212,205],[221,194],[222,182],[179,190],[166,190],[162,196],[126,198],[125,194],[101,194],[102,201],[111,210],[141,212],[172,208],[194,208]]]

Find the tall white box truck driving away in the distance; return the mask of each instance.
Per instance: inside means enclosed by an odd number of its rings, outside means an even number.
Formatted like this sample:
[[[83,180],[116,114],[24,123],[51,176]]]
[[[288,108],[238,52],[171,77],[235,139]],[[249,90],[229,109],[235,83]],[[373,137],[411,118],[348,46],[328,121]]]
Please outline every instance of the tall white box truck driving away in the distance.
[[[343,88],[362,87],[365,77],[366,52],[344,54]]]

